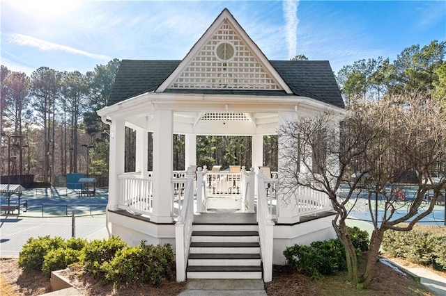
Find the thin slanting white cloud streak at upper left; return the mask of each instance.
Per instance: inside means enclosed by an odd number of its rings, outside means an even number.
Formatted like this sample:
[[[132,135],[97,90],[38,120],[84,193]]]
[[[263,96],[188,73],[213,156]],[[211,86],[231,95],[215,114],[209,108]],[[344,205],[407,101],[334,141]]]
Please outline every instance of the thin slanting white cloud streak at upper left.
[[[53,42],[48,42],[45,40],[40,40],[38,38],[33,38],[31,36],[26,36],[17,33],[11,33],[8,38],[8,42],[27,47],[36,47],[43,51],[65,51],[70,54],[78,54],[81,56],[87,56],[89,58],[98,58],[100,60],[111,60],[109,56],[104,56],[101,54],[91,54],[87,51],[83,51],[80,49],[75,49],[72,47],[67,47],[62,44],[56,44]]]

